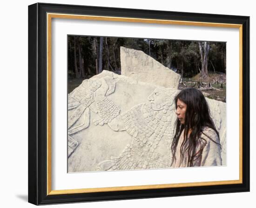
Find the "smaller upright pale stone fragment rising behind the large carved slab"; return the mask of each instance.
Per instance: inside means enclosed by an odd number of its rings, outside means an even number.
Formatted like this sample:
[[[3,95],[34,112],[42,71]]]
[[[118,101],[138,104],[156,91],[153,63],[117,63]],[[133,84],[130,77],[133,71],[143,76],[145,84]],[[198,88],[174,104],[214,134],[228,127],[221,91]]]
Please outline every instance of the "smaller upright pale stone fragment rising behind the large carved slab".
[[[178,89],[181,76],[142,51],[120,47],[121,75],[137,81]]]

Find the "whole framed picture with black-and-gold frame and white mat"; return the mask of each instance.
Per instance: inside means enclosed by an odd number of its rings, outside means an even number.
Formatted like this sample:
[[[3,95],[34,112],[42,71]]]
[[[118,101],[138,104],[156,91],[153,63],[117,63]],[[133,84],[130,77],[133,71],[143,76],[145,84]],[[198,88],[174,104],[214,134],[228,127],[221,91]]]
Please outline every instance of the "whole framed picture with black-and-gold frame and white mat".
[[[249,191],[249,17],[28,6],[28,202]]]

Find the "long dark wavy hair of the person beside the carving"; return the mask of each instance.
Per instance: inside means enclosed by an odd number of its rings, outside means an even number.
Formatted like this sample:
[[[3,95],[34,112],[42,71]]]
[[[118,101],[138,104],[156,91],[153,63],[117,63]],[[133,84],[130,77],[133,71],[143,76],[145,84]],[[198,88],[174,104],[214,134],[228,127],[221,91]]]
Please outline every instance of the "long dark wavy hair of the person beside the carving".
[[[176,160],[175,153],[179,138],[184,130],[184,140],[181,145],[181,160],[183,160],[185,153],[188,153],[188,167],[193,166],[196,158],[202,156],[204,145],[200,145],[200,151],[197,151],[198,144],[206,144],[206,140],[201,137],[204,127],[209,127],[214,130],[219,138],[219,133],[210,117],[209,106],[202,92],[195,88],[188,88],[180,91],[175,97],[175,108],[177,109],[177,101],[181,100],[187,104],[185,112],[185,123],[182,124],[179,119],[176,119],[175,136],[172,141],[171,150],[174,160]],[[189,135],[189,136],[188,136]],[[221,145],[220,143],[211,139],[213,142]],[[204,141],[204,142],[203,142]],[[219,140],[220,141],[220,140]],[[173,162],[174,162],[173,160]]]

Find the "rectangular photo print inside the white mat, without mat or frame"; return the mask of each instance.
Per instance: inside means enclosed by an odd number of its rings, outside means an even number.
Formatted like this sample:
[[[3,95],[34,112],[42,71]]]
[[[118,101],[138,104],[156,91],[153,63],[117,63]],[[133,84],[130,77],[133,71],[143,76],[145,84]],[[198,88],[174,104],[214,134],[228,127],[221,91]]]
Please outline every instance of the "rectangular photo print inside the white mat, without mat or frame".
[[[226,165],[226,42],[67,35],[67,169]]]

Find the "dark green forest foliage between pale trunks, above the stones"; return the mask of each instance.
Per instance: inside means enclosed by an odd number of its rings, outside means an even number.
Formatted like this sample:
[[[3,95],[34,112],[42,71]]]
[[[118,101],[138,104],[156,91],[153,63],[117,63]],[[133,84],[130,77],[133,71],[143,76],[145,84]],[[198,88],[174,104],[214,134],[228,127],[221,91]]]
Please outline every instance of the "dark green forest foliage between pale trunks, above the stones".
[[[100,37],[76,36],[77,45],[81,45],[84,71],[87,78],[96,74],[99,65]],[[68,75],[74,77],[74,36],[68,36]],[[209,42],[209,71],[226,72],[226,43]],[[103,38],[103,70],[121,73],[120,46],[140,50],[159,61],[162,65],[174,69],[183,78],[192,78],[201,70],[201,56],[198,41],[141,38]],[[79,54],[76,52],[77,61]]]

